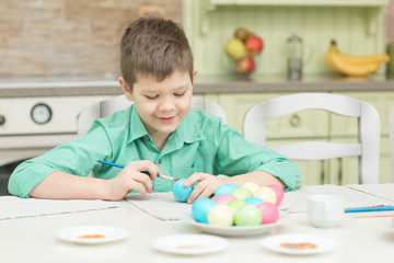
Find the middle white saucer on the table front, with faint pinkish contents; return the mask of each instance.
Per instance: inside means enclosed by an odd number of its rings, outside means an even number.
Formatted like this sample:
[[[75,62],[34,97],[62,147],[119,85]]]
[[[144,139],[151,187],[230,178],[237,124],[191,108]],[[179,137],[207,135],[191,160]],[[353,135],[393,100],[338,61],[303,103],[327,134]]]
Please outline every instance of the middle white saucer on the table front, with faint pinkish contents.
[[[210,235],[175,235],[153,240],[157,250],[175,254],[207,254],[227,249],[229,242]]]

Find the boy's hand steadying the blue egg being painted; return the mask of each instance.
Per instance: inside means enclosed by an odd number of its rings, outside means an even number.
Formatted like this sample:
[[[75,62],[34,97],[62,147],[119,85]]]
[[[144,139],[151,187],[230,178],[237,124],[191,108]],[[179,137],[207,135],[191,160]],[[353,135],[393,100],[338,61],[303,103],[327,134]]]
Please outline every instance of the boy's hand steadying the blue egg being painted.
[[[188,187],[196,182],[199,183],[194,186],[193,192],[187,198],[187,203],[189,204],[192,204],[197,198],[212,196],[216,188],[224,183],[224,180],[212,174],[198,172],[186,179],[184,182],[184,186]]]

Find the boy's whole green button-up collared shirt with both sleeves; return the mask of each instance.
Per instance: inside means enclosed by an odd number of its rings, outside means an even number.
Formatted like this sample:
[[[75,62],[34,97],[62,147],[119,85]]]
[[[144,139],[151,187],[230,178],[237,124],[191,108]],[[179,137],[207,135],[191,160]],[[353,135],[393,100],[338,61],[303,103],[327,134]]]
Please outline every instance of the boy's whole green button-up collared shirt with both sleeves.
[[[60,145],[43,156],[21,163],[9,181],[9,192],[21,197],[55,171],[94,178],[112,179],[120,171],[97,160],[127,164],[136,160],[150,160],[163,174],[187,178],[195,172],[237,175],[255,170],[278,176],[286,191],[300,186],[300,172],[288,158],[247,142],[221,118],[190,108],[170,136],[162,151],[147,133],[132,104],[126,111],[96,119],[89,133]],[[153,192],[172,191],[173,181],[153,180]]]

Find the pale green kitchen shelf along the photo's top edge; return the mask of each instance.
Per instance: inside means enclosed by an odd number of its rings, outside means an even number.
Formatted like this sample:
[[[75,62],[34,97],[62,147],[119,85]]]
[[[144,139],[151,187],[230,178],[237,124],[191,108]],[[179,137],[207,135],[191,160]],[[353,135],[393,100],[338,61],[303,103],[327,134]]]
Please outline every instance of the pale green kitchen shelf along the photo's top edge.
[[[389,0],[209,0],[212,5],[382,7]]]

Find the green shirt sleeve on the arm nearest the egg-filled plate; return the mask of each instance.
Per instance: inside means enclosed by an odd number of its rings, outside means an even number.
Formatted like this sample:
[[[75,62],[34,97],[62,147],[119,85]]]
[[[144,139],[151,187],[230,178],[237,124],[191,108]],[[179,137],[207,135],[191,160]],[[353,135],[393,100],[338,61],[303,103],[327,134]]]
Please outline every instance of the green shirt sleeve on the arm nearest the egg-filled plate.
[[[227,125],[220,124],[216,133],[218,174],[237,175],[259,170],[279,178],[287,186],[285,191],[300,187],[300,171],[287,157],[247,141]]]

